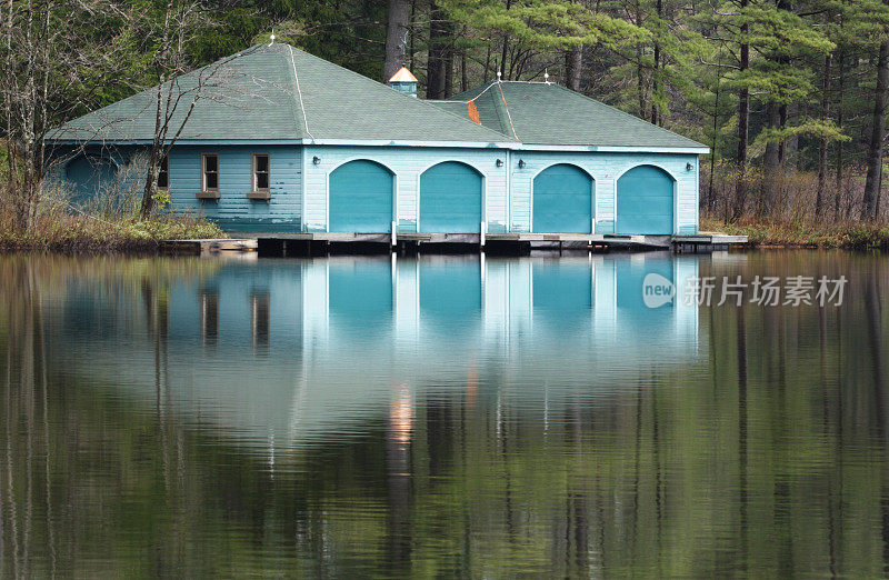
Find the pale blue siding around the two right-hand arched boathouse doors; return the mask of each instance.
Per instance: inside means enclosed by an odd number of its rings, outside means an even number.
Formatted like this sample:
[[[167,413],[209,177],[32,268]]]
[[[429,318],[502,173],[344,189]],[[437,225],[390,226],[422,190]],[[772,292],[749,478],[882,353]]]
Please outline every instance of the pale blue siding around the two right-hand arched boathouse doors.
[[[519,169],[519,161],[525,167]],[[575,164],[595,180],[595,233],[615,232],[617,180],[637,166],[650,164],[676,179],[676,233],[698,232],[698,156],[676,153],[585,153],[566,151],[513,151],[510,231],[531,231],[532,183],[542,170],[556,163]],[[686,169],[691,163],[692,170]]]

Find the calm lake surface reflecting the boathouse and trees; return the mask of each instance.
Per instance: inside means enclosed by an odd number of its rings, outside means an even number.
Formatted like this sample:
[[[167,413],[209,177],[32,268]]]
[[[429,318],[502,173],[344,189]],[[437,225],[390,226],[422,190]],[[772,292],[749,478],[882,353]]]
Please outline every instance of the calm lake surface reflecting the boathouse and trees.
[[[841,306],[680,296],[841,274]],[[0,258],[0,577],[882,576],[888,276]]]

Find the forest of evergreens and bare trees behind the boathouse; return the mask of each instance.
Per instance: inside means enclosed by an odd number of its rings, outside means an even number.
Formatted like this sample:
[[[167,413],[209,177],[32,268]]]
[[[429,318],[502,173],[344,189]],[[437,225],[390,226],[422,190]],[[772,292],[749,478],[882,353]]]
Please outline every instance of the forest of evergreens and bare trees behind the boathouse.
[[[379,81],[403,64],[430,99],[498,74],[548,74],[710,147],[701,213],[720,222],[888,213],[889,3],[880,0],[4,3],[0,179],[22,228],[39,213],[52,127],[272,33]]]

